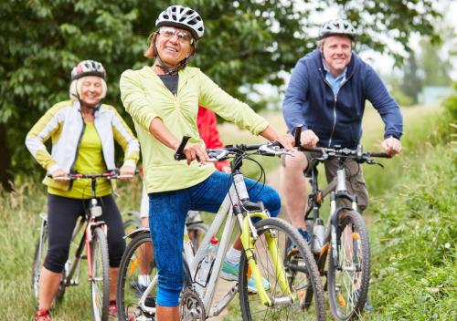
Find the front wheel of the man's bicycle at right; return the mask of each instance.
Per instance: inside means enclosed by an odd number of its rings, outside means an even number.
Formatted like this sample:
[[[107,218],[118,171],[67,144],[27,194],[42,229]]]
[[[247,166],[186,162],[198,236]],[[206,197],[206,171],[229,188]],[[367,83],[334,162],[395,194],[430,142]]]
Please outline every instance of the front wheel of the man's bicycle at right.
[[[342,266],[335,267],[334,249],[331,247],[328,260],[328,293],[335,320],[347,321],[360,316],[367,300],[370,249],[367,225],[362,216],[358,212],[345,210],[338,212],[337,215],[338,264]],[[344,233],[346,226],[352,227],[352,233],[348,237],[348,233]],[[345,250],[348,247],[350,249]],[[348,251],[351,257],[347,257]]]

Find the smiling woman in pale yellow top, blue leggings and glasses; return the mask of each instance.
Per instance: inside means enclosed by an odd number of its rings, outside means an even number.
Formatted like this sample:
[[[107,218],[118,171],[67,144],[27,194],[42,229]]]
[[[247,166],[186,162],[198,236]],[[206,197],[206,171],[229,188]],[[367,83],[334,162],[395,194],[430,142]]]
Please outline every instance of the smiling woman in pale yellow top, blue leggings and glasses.
[[[278,140],[286,149],[292,148],[293,138],[278,135],[265,119],[218,88],[200,69],[186,67],[204,33],[203,20],[195,10],[169,6],[158,16],[155,26],[144,55],[154,58],[153,67],[124,71],[120,88],[143,150],[149,224],[158,268],[156,316],[162,321],[179,318],[186,213],[218,212],[230,185],[228,173],[216,171],[212,163],[207,163],[205,145],[198,138],[198,106],[215,111],[255,135]],[[174,161],[184,135],[192,136],[184,150],[186,161]],[[246,184],[252,201],[262,201],[272,216],[278,214],[281,201],[277,192],[249,179]],[[241,249],[239,240],[234,248]]]

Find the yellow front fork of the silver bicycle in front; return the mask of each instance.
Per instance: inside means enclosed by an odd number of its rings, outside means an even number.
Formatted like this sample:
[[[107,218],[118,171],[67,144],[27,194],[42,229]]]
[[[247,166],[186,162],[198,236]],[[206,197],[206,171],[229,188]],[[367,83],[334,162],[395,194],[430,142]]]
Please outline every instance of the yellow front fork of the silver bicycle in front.
[[[282,291],[286,294],[284,297],[270,297],[265,290],[263,285],[263,276],[260,272],[259,264],[256,261],[254,254],[254,242],[257,239],[257,232],[253,229],[252,223],[250,221],[251,217],[259,217],[260,219],[266,219],[267,215],[264,212],[248,213],[243,218],[242,227],[241,227],[241,243],[248,259],[249,270],[252,274],[255,284],[257,286],[257,291],[260,296],[260,302],[263,305],[275,306],[275,305],[287,305],[291,304],[294,301],[291,288],[287,281],[287,277],[284,271],[284,266],[282,264],[281,255],[278,252],[278,243],[277,243],[277,234],[273,231],[265,233],[266,241],[268,244],[268,249],[271,254],[272,263],[274,270],[276,272],[276,277],[278,278],[279,284],[282,287]],[[250,277],[250,275],[247,275]]]

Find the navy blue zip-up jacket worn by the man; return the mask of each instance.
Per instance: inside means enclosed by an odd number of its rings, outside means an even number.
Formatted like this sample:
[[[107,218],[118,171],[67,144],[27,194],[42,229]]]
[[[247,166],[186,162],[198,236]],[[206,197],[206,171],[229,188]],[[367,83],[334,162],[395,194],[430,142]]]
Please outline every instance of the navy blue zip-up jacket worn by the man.
[[[318,48],[301,58],[293,69],[282,107],[291,132],[297,125],[303,125],[303,130],[312,129],[317,135],[318,146],[355,148],[362,137],[365,101],[369,100],[384,121],[384,138],[401,137],[403,119],[399,105],[376,71],[354,52],[337,95],[324,73]]]

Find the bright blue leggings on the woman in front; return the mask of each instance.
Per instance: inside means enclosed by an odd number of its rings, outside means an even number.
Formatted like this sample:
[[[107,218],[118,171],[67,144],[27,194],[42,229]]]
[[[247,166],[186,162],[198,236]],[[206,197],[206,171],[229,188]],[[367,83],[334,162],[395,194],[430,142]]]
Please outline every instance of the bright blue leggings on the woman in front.
[[[263,202],[277,216],[281,200],[271,187],[245,179],[251,202]],[[230,188],[230,175],[214,171],[205,181],[184,190],[149,194],[149,227],[157,264],[157,304],[177,306],[183,287],[183,239],[188,211],[218,212]]]

